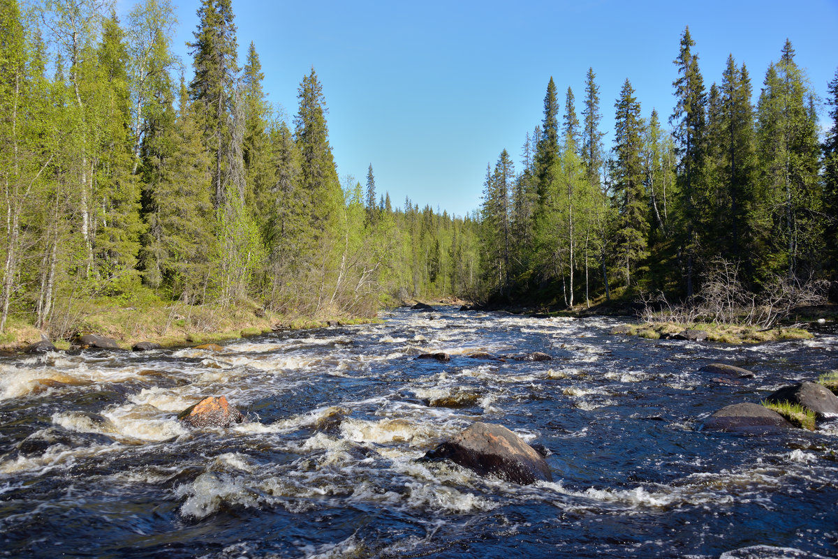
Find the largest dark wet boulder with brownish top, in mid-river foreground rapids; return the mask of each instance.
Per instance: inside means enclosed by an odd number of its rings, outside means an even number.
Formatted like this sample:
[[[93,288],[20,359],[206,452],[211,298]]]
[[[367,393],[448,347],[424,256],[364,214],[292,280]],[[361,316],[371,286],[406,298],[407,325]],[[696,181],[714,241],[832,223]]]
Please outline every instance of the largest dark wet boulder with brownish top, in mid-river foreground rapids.
[[[553,479],[541,454],[508,428],[492,423],[473,423],[463,433],[428,451],[423,459],[449,459],[479,475],[520,485]]]

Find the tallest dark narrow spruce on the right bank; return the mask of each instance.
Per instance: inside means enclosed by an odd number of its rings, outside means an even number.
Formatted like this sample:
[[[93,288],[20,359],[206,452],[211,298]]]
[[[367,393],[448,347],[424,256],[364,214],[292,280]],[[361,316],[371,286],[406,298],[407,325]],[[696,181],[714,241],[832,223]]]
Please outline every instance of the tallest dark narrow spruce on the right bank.
[[[698,56],[692,54],[696,42],[687,27],[681,35],[680,52],[674,60],[678,68],[675,87],[675,110],[670,117],[674,125],[675,152],[679,158],[678,182],[683,198],[682,244],[685,252],[686,295],[691,297],[695,290],[695,268],[697,250],[697,229],[700,223],[701,177],[704,165],[704,129],[706,124],[706,94],[704,79],[698,68]]]

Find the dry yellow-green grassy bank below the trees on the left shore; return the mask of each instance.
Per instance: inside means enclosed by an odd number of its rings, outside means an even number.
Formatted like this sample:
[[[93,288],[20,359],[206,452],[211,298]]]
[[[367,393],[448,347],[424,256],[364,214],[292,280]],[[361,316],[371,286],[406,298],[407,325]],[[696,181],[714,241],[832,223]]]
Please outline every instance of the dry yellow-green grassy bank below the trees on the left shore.
[[[125,349],[138,341],[162,346],[187,346],[256,336],[282,329],[300,330],[327,326],[328,321],[359,324],[375,317],[342,315],[304,316],[263,310],[251,301],[233,306],[171,304],[160,300],[132,305],[111,299],[90,300],[61,317],[52,331],[43,332],[59,349],[68,349],[75,336],[96,333],[116,340]],[[41,339],[42,331],[31,321],[12,317],[0,334],[0,351],[18,351]]]

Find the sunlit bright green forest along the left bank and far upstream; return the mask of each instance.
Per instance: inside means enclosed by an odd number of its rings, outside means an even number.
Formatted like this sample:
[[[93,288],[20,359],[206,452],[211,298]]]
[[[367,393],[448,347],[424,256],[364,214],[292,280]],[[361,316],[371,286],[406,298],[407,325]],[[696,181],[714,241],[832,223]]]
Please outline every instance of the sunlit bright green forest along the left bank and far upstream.
[[[230,0],[202,0],[194,77],[169,0],[0,0],[0,332],[65,335],[80,300],[368,315],[468,293],[477,221],[339,180],[314,69],[292,122],[245,64]],[[179,74],[179,80],[178,78]]]

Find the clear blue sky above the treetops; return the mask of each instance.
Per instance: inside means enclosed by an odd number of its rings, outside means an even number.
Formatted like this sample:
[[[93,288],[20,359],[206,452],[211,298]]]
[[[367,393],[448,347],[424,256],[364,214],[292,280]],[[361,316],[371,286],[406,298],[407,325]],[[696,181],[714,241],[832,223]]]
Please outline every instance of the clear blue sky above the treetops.
[[[233,11],[240,64],[252,40],[269,100],[289,121],[297,85],[316,70],[341,178],[352,174],[364,184],[372,163],[378,191],[389,191],[394,205],[410,196],[420,207],[458,215],[478,208],[486,164],[494,166],[501,150],[520,169],[525,133],[541,123],[551,76],[562,107],[572,87],[579,114],[585,75],[594,69],[610,148],[613,103],[627,77],[644,116],[654,107],[666,123],[685,25],[708,88],[721,82],[730,53],[747,64],[758,95],[786,38],[821,97],[838,68],[838,0],[515,4],[233,0]],[[174,47],[188,75],[184,43],[198,7],[198,0],[178,6]]]

